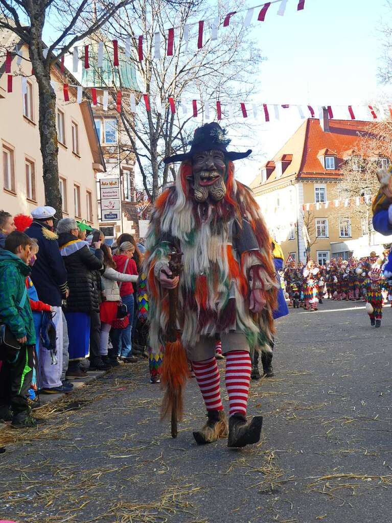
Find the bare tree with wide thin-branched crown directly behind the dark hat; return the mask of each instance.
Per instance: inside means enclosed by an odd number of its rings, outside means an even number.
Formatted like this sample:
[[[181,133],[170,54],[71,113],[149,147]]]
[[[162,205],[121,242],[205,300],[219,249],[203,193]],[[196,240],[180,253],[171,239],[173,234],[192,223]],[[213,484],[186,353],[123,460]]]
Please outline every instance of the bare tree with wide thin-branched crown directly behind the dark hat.
[[[259,78],[254,74],[261,56],[254,42],[243,30],[242,18],[230,21],[230,28],[219,28],[218,40],[211,38],[211,18],[227,14],[227,3],[212,11],[207,0],[168,6],[164,0],[135,0],[121,16],[115,16],[105,27],[105,37],[96,33],[92,39],[126,39],[131,36],[131,60],[137,71],[140,92],[135,112],[131,94],[123,96],[121,122],[136,154],[144,190],[153,201],[163,185],[174,179],[173,166],[163,165],[164,156],[185,151],[192,138],[195,122],[192,106],[185,101],[198,100],[198,112],[210,107],[209,119],[214,119],[216,102],[222,103],[222,116],[227,116],[227,102],[246,101]],[[235,10],[235,9],[232,9]],[[206,20],[203,48],[197,49],[195,17]],[[197,19],[197,18],[196,18]],[[222,22],[220,22],[222,24]],[[167,28],[175,27],[173,54],[167,56]],[[189,28],[188,39],[185,32]],[[156,37],[156,35],[159,35]],[[143,60],[139,60],[138,36],[143,35]],[[155,58],[159,38],[161,58]],[[188,49],[189,48],[189,49]],[[253,73],[253,76],[252,74]],[[99,74],[99,70],[97,70]],[[121,78],[113,77],[112,95],[121,88]],[[150,110],[146,111],[140,93],[148,93]],[[124,93],[123,93],[124,95]],[[168,98],[171,97],[174,109]],[[201,100],[201,104],[199,103]],[[132,102],[133,103],[133,102]],[[237,104],[238,105],[238,104]],[[184,113],[184,107],[187,113]],[[226,109],[225,109],[226,108]],[[226,111],[226,112],[225,112]]]

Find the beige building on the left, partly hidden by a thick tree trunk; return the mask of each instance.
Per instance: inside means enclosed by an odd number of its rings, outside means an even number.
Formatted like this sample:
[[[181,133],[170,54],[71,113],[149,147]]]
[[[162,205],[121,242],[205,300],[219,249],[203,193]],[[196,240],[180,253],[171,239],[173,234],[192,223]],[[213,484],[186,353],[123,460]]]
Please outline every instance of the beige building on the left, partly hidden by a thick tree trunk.
[[[13,89],[7,92],[4,57],[0,59],[0,209],[13,215],[29,214],[45,203],[42,179],[42,156],[38,130],[38,85],[31,75],[27,46],[19,46],[13,33],[1,31],[0,42],[7,49],[18,46],[23,59],[17,63],[13,54],[11,72]],[[17,74],[25,74],[26,80]],[[70,75],[69,72],[67,74]],[[57,96],[59,177],[64,217],[86,219],[98,226],[97,173],[105,171],[105,161],[95,130],[93,112],[88,101],[76,102],[76,89],[70,87],[70,101],[63,97],[67,81],[58,66],[52,66],[51,79]]]

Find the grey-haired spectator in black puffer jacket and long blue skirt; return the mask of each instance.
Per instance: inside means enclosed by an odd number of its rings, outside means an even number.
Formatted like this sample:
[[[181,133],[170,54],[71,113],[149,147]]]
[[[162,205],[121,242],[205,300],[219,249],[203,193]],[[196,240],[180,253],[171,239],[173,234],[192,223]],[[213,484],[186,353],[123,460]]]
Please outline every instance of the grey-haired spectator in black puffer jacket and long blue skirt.
[[[99,311],[99,296],[94,286],[93,271],[103,271],[104,265],[100,252],[99,257],[96,256],[90,251],[88,243],[77,237],[75,220],[63,218],[57,225],[57,231],[70,290],[64,307],[70,340],[68,376],[75,376],[75,371],[81,372],[78,362],[89,354],[91,313]]]

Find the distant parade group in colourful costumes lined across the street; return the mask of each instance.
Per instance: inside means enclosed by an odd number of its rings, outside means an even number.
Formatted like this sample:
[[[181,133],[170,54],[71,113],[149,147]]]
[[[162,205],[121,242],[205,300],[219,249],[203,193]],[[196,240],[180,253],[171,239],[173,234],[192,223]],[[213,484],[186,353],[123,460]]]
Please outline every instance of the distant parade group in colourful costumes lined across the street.
[[[364,301],[371,325],[380,327],[383,303],[392,301],[392,280],[383,274],[388,254],[385,249],[381,256],[372,251],[360,259],[332,258],[326,265],[312,259],[306,264],[290,261],[283,274],[288,305],[311,312],[317,311],[324,299]]]

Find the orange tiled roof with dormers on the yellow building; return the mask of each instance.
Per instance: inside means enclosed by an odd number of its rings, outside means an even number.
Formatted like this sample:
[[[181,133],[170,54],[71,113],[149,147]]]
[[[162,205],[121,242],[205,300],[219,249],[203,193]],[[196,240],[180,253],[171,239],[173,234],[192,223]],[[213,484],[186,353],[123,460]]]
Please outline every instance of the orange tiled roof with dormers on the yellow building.
[[[266,163],[264,168],[275,167],[275,162],[289,161],[290,158],[290,164],[279,179],[293,175],[298,179],[339,179],[342,176],[339,167],[348,151],[354,150],[360,142],[370,140],[368,137],[369,123],[361,120],[329,120],[330,132],[324,132],[319,119],[309,118],[276,153],[273,160]],[[323,167],[318,156],[326,154],[336,156],[337,169],[327,170]],[[267,184],[276,179],[276,170],[273,170]],[[261,184],[262,174],[260,172],[252,181],[251,187],[254,189],[260,187]]]

